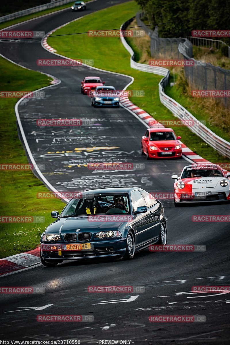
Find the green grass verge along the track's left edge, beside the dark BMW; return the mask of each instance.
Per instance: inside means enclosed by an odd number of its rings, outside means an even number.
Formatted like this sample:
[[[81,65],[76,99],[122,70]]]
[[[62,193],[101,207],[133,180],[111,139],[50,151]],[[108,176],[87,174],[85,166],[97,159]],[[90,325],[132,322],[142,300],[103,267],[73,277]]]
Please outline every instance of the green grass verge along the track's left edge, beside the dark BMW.
[[[0,58],[0,90],[36,90],[48,86],[50,78],[38,72],[28,71]],[[18,138],[14,105],[16,98],[0,99],[0,161],[1,164],[28,164],[21,141]],[[61,210],[60,199],[37,199],[38,192],[48,189],[32,171],[0,171],[1,216],[44,216],[44,223],[1,223],[0,258],[26,250],[39,244],[40,235],[51,223],[50,211]]]

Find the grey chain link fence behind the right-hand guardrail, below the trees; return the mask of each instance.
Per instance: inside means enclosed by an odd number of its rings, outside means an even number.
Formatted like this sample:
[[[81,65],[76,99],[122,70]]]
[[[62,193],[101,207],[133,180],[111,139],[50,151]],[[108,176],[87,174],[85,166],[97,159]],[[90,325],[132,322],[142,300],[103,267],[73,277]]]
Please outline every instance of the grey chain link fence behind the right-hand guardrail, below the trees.
[[[207,63],[206,66],[201,66],[197,60],[192,58],[193,49],[192,42],[187,38],[160,38],[158,35],[158,27],[156,26],[154,30],[149,29],[149,27],[144,27],[142,21],[143,13],[137,13],[136,20],[139,26],[143,26],[143,30],[151,38],[151,57],[156,59],[192,59],[194,61],[194,66],[184,66],[184,75],[190,85],[194,90],[230,90],[230,70],[223,69],[218,66],[213,66],[211,63]],[[220,44],[216,41],[218,40],[207,40],[213,41],[209,43],[217,45]],[[219,41],[221,42],[221,41]],[[223,42],[224,43],[224,42]],[[230,108],[230,97],[215,97],[224,107]]]

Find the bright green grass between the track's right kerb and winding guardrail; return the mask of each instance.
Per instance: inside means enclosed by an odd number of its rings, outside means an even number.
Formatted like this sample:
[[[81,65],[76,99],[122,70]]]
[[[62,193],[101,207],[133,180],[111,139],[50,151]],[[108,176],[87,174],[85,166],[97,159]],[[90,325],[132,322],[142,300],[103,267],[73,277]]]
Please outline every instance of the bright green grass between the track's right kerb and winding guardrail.
[[[119,28],[121,23],[133,17],[138,11],[136,2],[119,4],[93,13],[55,32],[68,34],[72,32],[87,31],[88,23],[95,30]],[[132,39],[129,39],[131,43]],[[130,55],[123,47],[118,37],[89,37],[87,34],[75,36],[62,36],[48,38],[48,43],[58,53],[73,59],[94,59],[94,66],[113,72],[120,72],[134,77],[129,89],[144,90],[144,97],[130,97],[137,106],[146,110],[157,120],[174,120],[172,113],[164,107],[159,100],[158,83],[160,76],[136,71],[130,68]],[[136,45],[136,50],[138,45]],[[226,162],[215,150],[199,137],[194,135],[187,127],[174,127],[177,135],[194,152],[213,162]],[[140,133],[141,136],[141,133]]]

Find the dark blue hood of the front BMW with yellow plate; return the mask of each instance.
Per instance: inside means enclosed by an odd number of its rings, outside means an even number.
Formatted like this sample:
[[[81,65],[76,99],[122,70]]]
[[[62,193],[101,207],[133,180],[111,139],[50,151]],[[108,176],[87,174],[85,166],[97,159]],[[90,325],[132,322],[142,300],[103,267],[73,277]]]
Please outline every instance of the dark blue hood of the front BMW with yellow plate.
[[[128,215],[123,215],[126,217],[122,218],[122,215],[119,215],[120,220],[117,220],[118,215],[108,214],[99,216],[77,216],[77,217],[69,217],[69,218],[60,218],[54,223],[50,224],[45,233],[46,234],[68,234],[68,233],[75,233],[77,229],[80,229],[78,233],[81,232],[91,232],[97,233],[98,231],[105,231],[105,230],[119,230],[130,223],[130,220],[127,220]],[[107,217],[107,218],[106,218]],[[109,219],[112,221],[108,221]],[[132,216],[129,216],[132,217]]]

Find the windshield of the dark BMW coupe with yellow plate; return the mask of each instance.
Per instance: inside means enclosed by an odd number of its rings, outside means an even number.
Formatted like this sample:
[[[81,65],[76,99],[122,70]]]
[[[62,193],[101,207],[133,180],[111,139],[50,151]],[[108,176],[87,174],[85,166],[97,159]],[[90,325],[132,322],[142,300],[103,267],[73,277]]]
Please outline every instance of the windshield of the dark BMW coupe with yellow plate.
[[[94,214],[130,214],[128,195],[101,193],[84,196],[80,193],[79,198],[70,200],[60,218]]]

